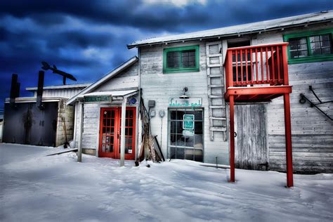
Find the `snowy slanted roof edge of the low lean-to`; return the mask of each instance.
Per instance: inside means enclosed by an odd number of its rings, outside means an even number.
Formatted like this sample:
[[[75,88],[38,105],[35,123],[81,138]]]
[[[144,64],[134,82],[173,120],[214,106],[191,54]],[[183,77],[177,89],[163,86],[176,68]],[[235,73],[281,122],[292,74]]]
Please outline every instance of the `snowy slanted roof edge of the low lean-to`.
[[[98,86],[100,86],[103,83],[105,83],[105,81],[111,79],[112,77],[115,77],[117,74],[119,74],[119,72],[122,72],[127,67],[130,67],[131,65],[133,65],[137,61],[138,61],[138,57],[133,56],[132,58],[130,58],[126,62],[122,63],[122,65],[119,65],[119,67],[115,68],[115,70],[112,70],[111,72],[108,72],[107,74],[105,74],[104,77],[102,77],[101,79],[98,79],[93,84],[90,84],[88,87],[86,87],[86,89],[83,89],[82,91],[80,91],[79,93],[77,93],[77,95],[75,95],[72,98],[70,98],[69,100],[67,100],[66,104],[70,105],[70,104],[74,103],[74,101],[79,96],[84,95],[86,93],[89,93],[89,92],[93,91],[93,89],[96,89]]]

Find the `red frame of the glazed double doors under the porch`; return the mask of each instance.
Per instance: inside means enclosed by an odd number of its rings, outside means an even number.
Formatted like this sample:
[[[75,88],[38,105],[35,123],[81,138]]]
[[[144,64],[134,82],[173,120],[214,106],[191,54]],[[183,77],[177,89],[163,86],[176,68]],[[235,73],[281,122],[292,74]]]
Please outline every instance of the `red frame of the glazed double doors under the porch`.
[[[113,152],[102,152],[103,145],[103,112],[105,111],[115,111],[115,123],[114,123],[114,135],[113,135]],[[135,145],[136,145],[136,107],[126,107],[126,111],[133,110],[133,126],[127,126],[126,129],[132,128],[132,153],[125,153],[125,159],[135,159]],[[121,117],[122,117],[122,107],[101,107],[100,108],[100,135],[99,135],[99,143],[98,143],[98,157],[110,157],[119,159],[120,158],[120,131],[121,131]],[[129,119],[126,117],[126,120]],[[110,126],[112,127],[112,126]],[[111,134],[109,134],[111,135]],[[126,139],[126,138],[125,138]],[[111,143],[109,143],[111,144]],[[125,141],[125,146],[129,145]]]

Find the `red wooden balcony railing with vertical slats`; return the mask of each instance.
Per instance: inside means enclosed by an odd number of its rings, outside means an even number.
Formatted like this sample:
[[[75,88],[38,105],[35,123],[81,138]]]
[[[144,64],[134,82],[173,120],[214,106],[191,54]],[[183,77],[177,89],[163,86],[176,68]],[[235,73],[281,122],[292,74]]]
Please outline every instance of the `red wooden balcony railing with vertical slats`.
[[[226,88],[288,85],[287,43],[228,48]]]

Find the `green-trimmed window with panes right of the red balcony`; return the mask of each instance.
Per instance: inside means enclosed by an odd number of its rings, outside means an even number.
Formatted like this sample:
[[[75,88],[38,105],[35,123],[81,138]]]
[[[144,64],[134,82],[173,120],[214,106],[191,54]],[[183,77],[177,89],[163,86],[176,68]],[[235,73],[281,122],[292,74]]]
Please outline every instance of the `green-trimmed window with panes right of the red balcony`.
[[[286,34],[289,64],[333,60],[333,29]]]

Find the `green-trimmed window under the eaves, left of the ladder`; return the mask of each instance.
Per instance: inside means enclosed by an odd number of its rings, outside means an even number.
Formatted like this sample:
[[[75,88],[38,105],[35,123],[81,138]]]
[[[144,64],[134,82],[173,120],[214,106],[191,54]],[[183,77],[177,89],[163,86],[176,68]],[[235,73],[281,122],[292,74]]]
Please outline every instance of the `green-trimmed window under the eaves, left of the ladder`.
[[[198,72],[199,46],[164,48],[163,72]]]

